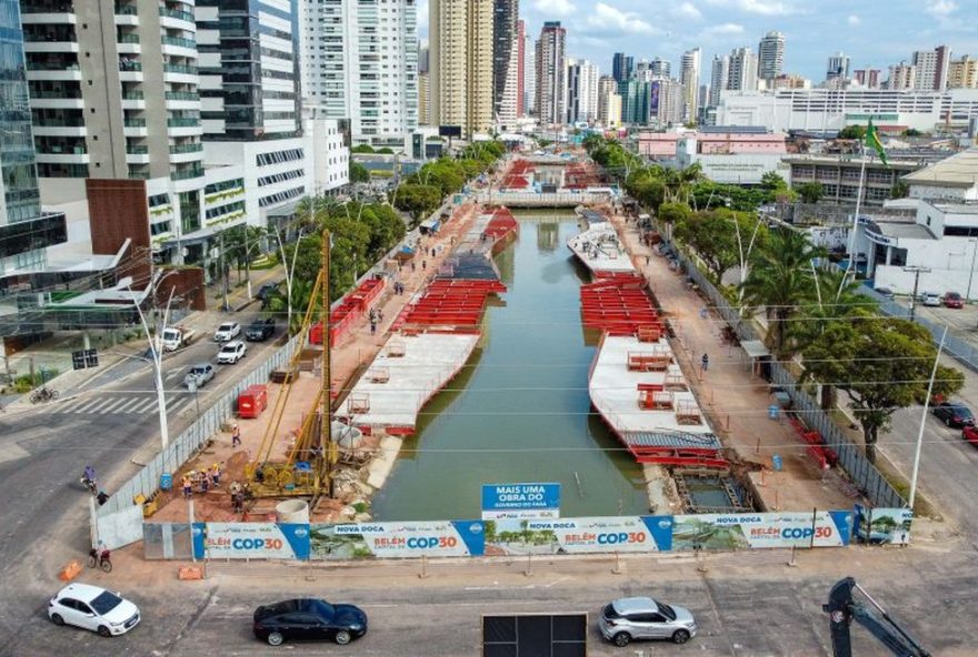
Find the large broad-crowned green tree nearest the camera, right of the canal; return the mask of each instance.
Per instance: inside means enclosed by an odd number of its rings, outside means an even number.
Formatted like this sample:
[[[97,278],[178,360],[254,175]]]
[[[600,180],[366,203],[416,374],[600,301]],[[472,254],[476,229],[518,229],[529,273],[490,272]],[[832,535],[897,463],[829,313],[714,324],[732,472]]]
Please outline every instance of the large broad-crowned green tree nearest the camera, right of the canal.
[[[851,402],[862,427],[866,457],[876,461],[880,431],[888,431],[898,408],[927,394],[937,350],[927,328],[915,322],[866,313],[834,322],[805,352],[806,376],[835,384]],[[964,375],[938,366],[935,395],[950,395]]]

